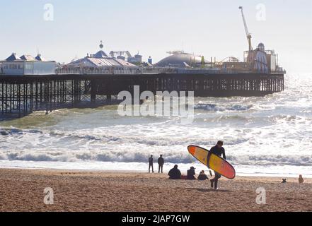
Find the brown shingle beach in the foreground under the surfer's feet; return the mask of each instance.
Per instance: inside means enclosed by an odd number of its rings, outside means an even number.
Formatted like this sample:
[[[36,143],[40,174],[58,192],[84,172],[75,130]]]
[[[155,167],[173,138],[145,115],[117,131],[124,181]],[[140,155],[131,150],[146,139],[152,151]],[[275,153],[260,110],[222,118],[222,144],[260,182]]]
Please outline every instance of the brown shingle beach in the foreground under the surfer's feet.
[[[221,178],[214,191],[208,181],[170,180],[158,173],[0,169],[0,181],[1,212],[312,211],[312,179],[282,184],[275,177]],[[53,189],[52,205],[44,202],[45,188]],[[256,202],[258,188],[265,189],[265,204]]]

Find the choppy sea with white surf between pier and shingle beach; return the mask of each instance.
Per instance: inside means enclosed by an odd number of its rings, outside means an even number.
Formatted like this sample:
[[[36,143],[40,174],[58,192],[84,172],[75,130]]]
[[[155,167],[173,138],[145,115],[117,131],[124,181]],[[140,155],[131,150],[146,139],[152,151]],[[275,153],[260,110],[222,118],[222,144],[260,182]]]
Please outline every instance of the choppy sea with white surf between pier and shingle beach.
[[[0,121],[0,167],[147,172],[163,155],[165,172],[207,169],[188,145],[224,141],[241,176],[312,177],[312,75],[285,76],[285,90],[265,97],[195,97],[194,120],[128,116],[117,105],[57,109]],[[158,171],[157,164],[154,164]]]

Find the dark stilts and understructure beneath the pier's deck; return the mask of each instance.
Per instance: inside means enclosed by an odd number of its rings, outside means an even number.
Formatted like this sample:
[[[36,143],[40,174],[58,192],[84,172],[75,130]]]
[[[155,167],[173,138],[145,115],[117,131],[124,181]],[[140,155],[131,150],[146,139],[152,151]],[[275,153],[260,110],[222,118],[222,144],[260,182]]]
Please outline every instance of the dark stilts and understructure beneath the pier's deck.
[[[121,91],[194,91],[195,97],[265,96],[284,90],[284,73],[0,76],[0,114],[92,107]]]

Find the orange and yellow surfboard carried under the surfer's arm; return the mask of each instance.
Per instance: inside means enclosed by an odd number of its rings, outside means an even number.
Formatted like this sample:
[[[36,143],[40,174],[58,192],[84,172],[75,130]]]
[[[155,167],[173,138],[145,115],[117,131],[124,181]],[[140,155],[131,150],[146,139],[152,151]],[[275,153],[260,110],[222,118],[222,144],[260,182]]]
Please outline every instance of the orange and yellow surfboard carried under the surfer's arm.
[[[211,154],[209,150],[196,145],[188,146],[187,150],[193,157],[202,162],[202,164],[207,165],[209,169],[213,169],[227,179],[235,178],[236,172],[234,167],[224,158]]]

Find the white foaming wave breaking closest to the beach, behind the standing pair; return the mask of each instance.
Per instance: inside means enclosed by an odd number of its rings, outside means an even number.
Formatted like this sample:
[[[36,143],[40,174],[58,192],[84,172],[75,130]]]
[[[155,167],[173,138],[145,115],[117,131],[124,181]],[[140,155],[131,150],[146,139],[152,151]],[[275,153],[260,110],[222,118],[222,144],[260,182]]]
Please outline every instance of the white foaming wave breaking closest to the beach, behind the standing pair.
[[[144,151],[132,150],[105,150],[105,151],[63,151],[58,153],[52,152],[33,152],[25,153],[25,151],[16,151],[14,153],[0,152],[0,160],[19,160],[33,162],[147,162],[149,154],[154,154],[154,158],[158,154],[163,154],[166,162],[173,164],[178,163],[195,163],[187,151],[171,151],[166,153],[146,153]],[[227,160],[233,165],[251,165],[251,166],[272,166],[272,165],[294,165],[294,166],[312,166],[312,155],[227,155]]]

